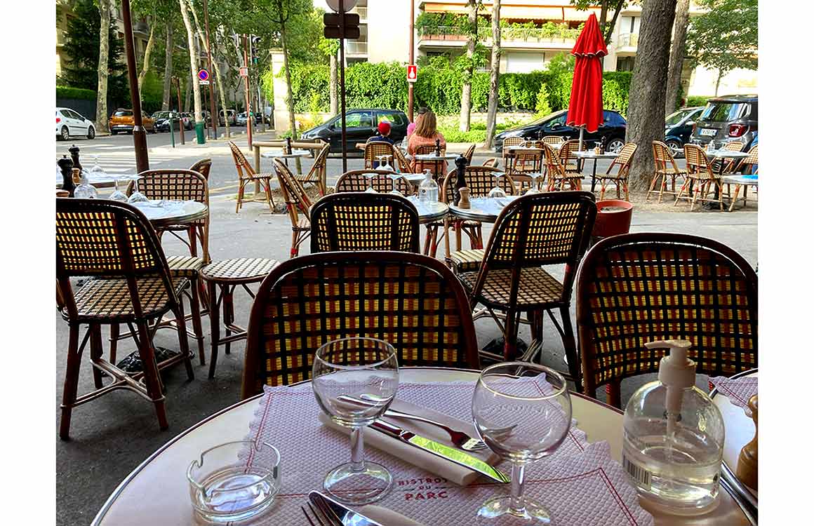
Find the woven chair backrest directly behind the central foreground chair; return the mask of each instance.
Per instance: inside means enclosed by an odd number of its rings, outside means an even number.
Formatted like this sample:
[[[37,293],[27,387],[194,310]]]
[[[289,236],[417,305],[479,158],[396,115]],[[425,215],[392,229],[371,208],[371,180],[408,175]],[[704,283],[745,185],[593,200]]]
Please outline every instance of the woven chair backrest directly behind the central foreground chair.
[[[311,208],[311,253],[396,250],[418,254],[418,211],[390,193],[330,193]]]

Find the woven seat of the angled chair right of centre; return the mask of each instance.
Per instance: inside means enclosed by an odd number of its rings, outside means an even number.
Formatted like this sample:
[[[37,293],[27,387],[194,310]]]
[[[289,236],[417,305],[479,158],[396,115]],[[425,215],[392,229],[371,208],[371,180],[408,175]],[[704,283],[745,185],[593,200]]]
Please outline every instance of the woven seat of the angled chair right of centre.
[[[509,268],[490,270],[486,276],[484,289],[476,299],[488,306],[507,306],[511,272]],[[459,277],[464,287],[471,293],[475,288],[478,272],[464,272]],[[551,304],[567,304],[567,302],[562,302],[562,283],[540,267],[521,269],[517,301],[521,309],[523,306],[532,308]]]

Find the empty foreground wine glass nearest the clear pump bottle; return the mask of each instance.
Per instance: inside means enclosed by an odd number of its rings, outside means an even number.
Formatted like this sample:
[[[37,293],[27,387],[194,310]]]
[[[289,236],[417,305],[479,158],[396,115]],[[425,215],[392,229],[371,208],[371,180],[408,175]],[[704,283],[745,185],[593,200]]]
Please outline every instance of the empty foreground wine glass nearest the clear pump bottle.
[[[511,494],[484,502],[479,524],[551,524],[545,506],[523,495],[523,483],[526,466],[554,453],[571,427],[565,378],[536,363],[495,363],[480,373],[472,418],[489,449],[512,463]]]

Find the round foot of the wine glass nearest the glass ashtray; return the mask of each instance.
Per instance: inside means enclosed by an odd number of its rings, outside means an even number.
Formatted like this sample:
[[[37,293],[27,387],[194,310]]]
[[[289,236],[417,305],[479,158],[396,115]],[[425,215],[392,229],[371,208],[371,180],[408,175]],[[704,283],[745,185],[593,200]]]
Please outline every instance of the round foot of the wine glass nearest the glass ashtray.
[[[365,462],[360,471],[351,463],[332,469],[325,477],[322,487],[331,497],[344,504],[370,504],[387,495],[393,485],[393,477],[387,467],[379,463]]]

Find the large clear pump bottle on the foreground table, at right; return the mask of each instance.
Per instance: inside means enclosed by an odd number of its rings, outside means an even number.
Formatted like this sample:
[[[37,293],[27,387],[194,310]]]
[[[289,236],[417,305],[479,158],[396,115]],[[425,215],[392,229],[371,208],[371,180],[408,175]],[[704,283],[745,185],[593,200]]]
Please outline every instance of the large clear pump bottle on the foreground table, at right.
[[[624,411],[622,464],[628,479],[660,511],[699,515],[718,503],[724,419],[695,387],[689,341],[654,341],[668,347],[659,380],[633,393]]]

